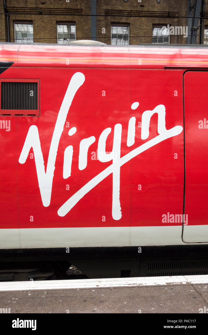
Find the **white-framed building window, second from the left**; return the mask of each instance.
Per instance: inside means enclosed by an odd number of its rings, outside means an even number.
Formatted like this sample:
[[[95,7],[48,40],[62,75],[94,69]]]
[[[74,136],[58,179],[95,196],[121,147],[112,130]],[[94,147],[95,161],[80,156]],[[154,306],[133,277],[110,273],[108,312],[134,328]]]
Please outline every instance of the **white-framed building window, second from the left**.
[[[74,23],[57,23],[57,43],[68,44],[76,41],[76,26]]]

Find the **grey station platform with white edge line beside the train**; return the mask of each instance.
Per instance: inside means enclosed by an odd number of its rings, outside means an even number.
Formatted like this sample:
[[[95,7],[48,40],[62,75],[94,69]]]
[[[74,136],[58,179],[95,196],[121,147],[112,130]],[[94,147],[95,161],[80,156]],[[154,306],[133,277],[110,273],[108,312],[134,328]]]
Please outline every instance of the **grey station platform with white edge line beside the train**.
[[[208,275],[0,282],[9,313],[208,313]]]

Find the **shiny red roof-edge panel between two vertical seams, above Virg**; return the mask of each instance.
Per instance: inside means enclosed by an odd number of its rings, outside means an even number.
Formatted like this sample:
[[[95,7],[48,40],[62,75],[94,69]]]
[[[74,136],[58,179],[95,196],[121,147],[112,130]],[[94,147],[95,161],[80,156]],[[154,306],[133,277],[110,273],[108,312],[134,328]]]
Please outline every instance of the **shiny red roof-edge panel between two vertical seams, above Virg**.
[[[125,47],[21,45],[18,66],[129,68],[130,55]]]

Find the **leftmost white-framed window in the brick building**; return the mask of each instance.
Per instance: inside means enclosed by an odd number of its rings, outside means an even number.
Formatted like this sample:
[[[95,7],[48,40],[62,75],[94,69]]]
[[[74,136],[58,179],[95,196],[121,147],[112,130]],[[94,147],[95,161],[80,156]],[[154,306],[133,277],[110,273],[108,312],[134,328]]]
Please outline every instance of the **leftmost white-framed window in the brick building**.
[[[32,22],[14,22],[14,40],[16,43],[33,43]]]

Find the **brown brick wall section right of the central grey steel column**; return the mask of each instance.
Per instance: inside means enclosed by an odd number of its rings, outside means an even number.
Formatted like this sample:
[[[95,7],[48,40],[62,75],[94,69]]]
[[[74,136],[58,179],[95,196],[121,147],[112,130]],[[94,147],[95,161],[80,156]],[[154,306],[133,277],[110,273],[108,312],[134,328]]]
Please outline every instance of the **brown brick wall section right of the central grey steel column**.
[[[170,4],[170,10],[169,10]],[[143,6],[143,7],[141,7]],[[102,42],[111,44],[111,24],[112,23],[128,23],[130,24],[130,44],[136,45],[139,43],[152,43],[152,28],[153,25],[167,25],[170,26],[186,26],[187,18],[179,18],[179,16],[187,15],[187,1],[178,0],[97,0],[97,14],[104,14],[106,11],[123,10],[124,14],[128,14],[127,11],[139,11],[142,15],[152,15],[153,17],[121,17],[121,16],[106,16],[102,17],[97,21],[97,37],[104,37],[100,39]],[[166,15],[168,11],[177,12],[175,17],[157,17]],[[102,28],[106,28],[106,34],[102,34]],[[183,36],[170,37],[170,43],[186,43],[186,38]]]

